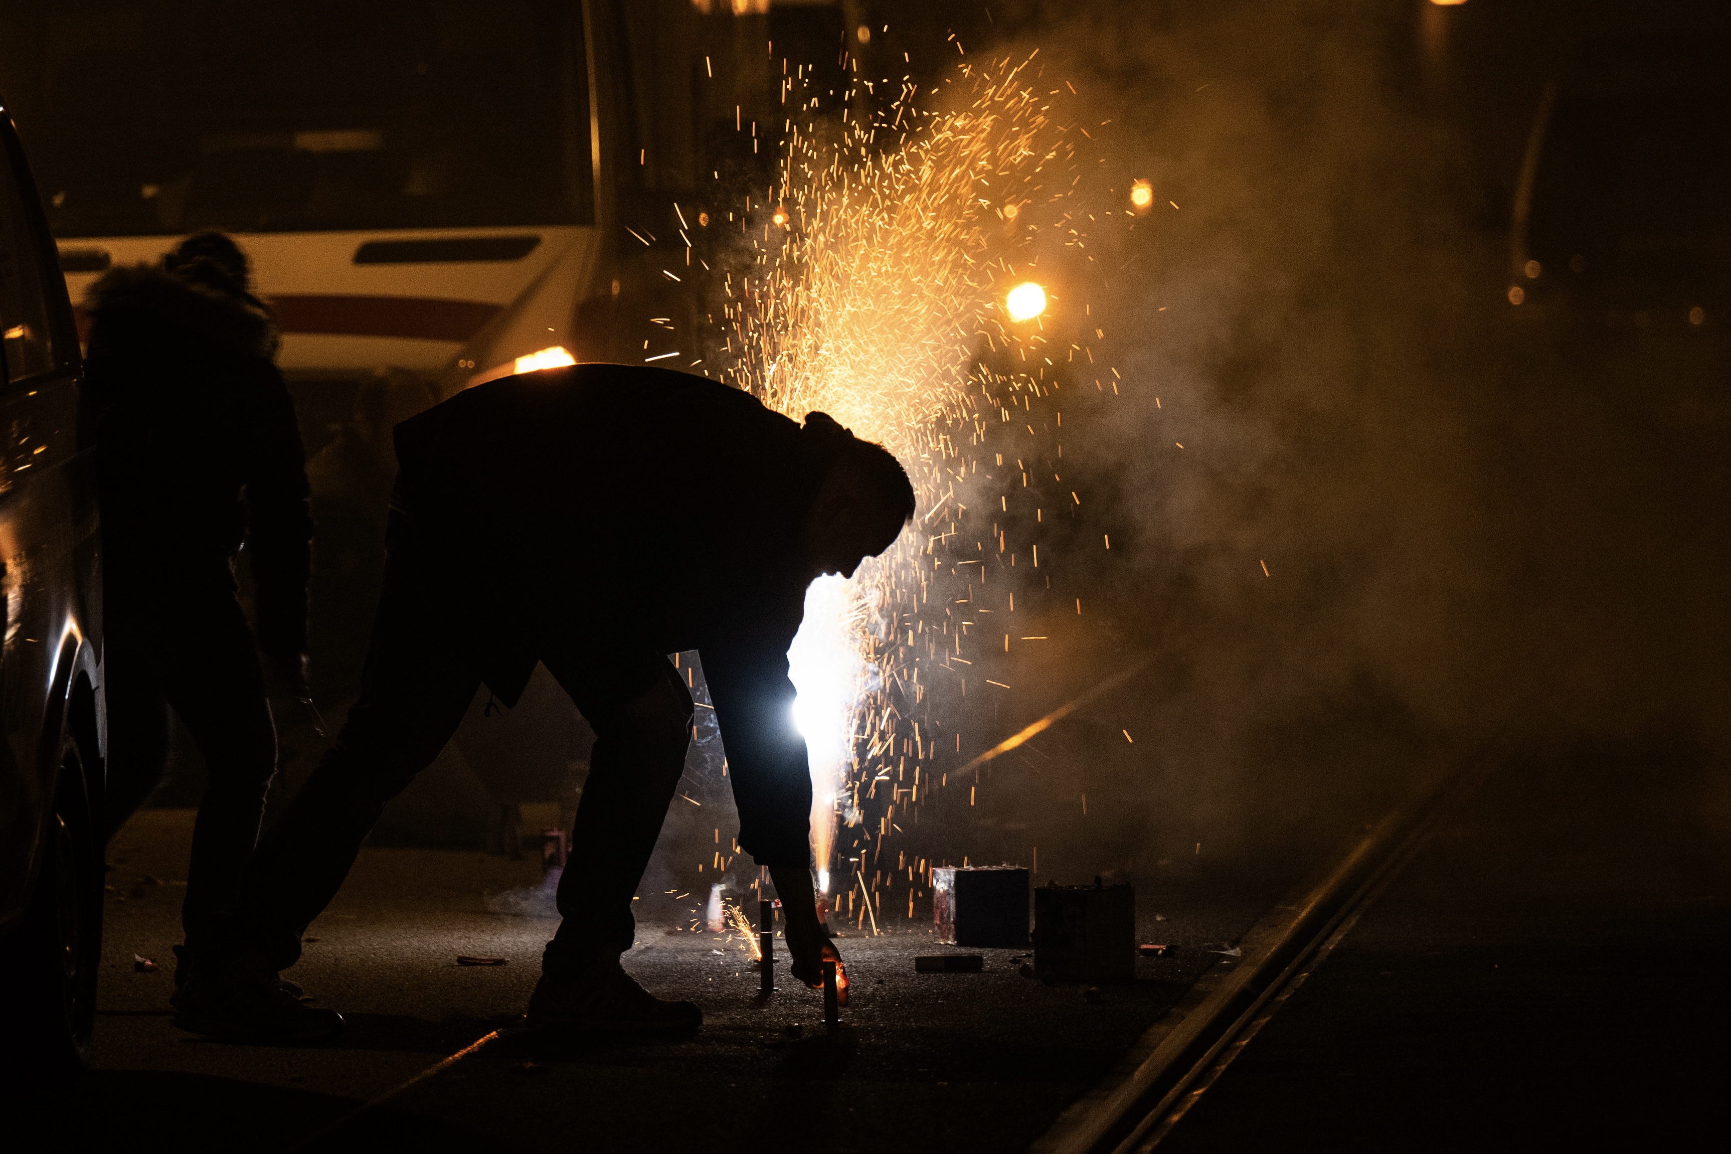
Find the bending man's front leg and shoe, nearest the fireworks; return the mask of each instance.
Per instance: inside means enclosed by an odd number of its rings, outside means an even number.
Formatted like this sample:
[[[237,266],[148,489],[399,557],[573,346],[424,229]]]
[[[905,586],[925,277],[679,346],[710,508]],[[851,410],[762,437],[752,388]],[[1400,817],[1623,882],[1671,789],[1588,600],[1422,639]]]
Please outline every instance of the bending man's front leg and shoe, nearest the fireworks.
[[[689,1029],[703,1014],[661,1002],[618,964],[632,948],[632,898],[666,818],[691,744],[691,694],[658,654],[544,657],[595,730],[571,851],[559,877],[559,931],[542,955],[530,1024]]]

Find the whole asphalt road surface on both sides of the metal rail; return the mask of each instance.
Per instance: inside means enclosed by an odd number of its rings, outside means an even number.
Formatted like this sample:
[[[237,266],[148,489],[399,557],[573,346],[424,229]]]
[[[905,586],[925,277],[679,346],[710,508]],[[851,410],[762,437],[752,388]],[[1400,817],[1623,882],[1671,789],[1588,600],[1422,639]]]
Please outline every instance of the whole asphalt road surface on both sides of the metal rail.
[[[1721,779],[1657,739],[1497,768],[1162,1149],[1691,1149],[1731,1090]],[[369,848],[293,971],[348,1031],[263,1047],[170,1024],[190,818],[147,810],[111,846],[95,1066],[21,1114],[21,1149],[1026,1149],[1303,865],[1142,894],[1139,936],[1175,953],[1097,991],[1023,978],[1018,950],[917,974],[930,931],[853,931],[834,1033],[815,991],[760,997],[739,939],[644,919],[627,967],[705,1028],[583,1042],[518,1024],[554,926],[533,862]]]

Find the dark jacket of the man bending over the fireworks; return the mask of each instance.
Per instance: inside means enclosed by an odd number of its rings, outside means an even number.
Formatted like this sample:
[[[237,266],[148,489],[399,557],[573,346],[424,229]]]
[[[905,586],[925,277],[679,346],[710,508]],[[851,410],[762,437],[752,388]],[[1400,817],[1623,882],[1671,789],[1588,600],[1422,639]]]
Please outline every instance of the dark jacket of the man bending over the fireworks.
[[[805,523],[848,434],[661,369],[580,365],[476,386],[396,426],[396,507],[434,526],[473,645],[507,702],[563,628],[620,685],[699,651],[762,865],[810,862],[812,787],[788,645],[805,611]]]

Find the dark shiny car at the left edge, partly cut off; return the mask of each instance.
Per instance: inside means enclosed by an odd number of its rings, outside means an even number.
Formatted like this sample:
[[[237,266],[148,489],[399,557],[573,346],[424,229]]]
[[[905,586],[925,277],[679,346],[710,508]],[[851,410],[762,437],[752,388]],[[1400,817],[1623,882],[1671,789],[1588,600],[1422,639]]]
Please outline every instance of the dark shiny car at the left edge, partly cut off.
[[[0,100],[3,104],[3,100]],[[0,109],[0,1078],[83,1064],[102,953],[100,555],[78,330]]]

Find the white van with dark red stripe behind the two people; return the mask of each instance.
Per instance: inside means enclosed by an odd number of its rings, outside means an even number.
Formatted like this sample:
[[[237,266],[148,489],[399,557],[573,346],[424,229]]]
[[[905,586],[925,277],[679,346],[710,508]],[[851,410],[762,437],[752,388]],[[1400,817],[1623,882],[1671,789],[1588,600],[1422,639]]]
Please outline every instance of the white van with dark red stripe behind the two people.
[[[843,26],[767,0],[9,9],[0,69],[74,303],[220,228],[291,382],[395,369],[440,394],[545,349],[699,360],[706,209],[767,182],[781,128],[770,42],[817,28],[833,59]]]

